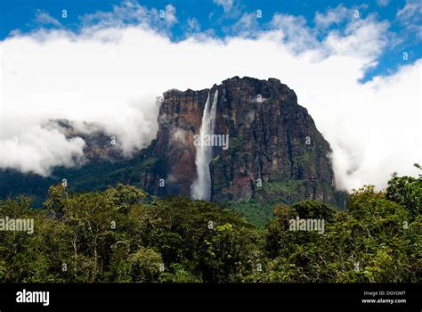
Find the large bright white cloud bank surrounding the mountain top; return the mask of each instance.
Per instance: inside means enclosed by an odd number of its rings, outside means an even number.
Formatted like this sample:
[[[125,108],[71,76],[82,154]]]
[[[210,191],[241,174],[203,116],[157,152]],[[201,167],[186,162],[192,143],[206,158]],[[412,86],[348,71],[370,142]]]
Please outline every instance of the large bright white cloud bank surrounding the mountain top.
[[[387,24],[353,22],[344,34],[330,32],[316,42],[304,20],[280,17],[272,20],[276,29],[255,38],[203,35],[174,43],[144,25],[7,38],[0,44],[0,166],[46,174],[52,166],[72,165],[83,143],[40,129],[56,118],[98,122],[130,154],[156,134],[159,94],[249,76],[279,78],[296,91],[331,144],[339,185],[385,186],[394,171],[416,175],[422,61],[361,84],[364,70],[385,48]],[[21,144],[11,148],[13,136]]]

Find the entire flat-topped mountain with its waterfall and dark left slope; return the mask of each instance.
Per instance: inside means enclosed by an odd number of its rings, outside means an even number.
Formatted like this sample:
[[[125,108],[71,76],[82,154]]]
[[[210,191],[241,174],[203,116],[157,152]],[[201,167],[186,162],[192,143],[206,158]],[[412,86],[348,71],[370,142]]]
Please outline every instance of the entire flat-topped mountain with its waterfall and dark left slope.
[[[169,90],[158,99],[158,133],[127,156],[100,125],[53,119],[45,127],[85,142],[84,159],[47,177],[3,169],[0,195],[29,194],[40,205],[48,187],[105,190],[123,183],[164,198],[183,195],[225,204],[264,226],[273,206],[320,200],[344,208],[329,143],[293,90],[269,78],[229,78],[209,89]],[[200,140],[199,140],[200,139]]]

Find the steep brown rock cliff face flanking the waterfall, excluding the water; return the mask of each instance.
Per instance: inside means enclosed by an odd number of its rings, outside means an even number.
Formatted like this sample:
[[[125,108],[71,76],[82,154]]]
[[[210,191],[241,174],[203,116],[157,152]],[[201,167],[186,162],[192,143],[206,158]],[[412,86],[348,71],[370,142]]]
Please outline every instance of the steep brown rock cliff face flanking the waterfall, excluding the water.
[[[212,147],[213,201],[336,203],[329,144],[297,104],[295,92],[274,78],[235,77],[211,89],[166,92],[155,145],[166,163],[166,184],[159,193],[191,194],[197,178],[194,135],[199,135],[208,93],[217,89],[215,135],[229,135],[229,144]],[[152,188],[158,193],[157,184]]]

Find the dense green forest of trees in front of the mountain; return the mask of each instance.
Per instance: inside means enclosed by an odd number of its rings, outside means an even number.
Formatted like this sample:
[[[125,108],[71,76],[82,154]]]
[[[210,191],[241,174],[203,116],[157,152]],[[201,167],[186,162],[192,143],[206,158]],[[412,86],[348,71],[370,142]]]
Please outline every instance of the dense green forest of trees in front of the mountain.
[[[132,185],[68,193],[44,209],[19,196],[0,218],[33,218],[33,234],[0,231],[0,280],[47,282],[421,282],[422,177],[355,191],[345,210],[276,205],[264,229],[207,201],[150,197]],[[321,218],[324,234],[290,231]]]

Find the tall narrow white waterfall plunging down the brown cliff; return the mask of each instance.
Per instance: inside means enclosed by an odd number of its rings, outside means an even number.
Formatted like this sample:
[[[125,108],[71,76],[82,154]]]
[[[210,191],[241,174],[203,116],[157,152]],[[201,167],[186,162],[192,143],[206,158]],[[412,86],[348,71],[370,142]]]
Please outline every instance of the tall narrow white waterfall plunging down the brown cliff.
[[[205,103],[202,114],[202,122],[199,128],[199,144],[197,144],[197,155],[195,165],[197,167],[198,179],[191,185],[191,196],[196,200],[211,199],[211,175],[209,173],[209,163],[213,160],[213,146],[207,144],[207,137],[214,134],[215,111],[218,100],[218,89],[215,90],[214,100],[209,108],[210,94],[208,93],[207,103]]]

